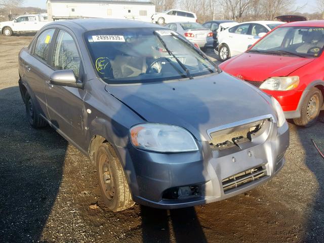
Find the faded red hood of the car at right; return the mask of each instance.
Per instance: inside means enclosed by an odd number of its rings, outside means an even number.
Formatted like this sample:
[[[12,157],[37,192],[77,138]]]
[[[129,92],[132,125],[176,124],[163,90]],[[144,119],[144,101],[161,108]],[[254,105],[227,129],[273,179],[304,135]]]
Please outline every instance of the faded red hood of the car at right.
[[[244,80],[264,81],[269,77],[287,76],[313,60],[314,58],[242,53],[223,62],[219,67]]]

